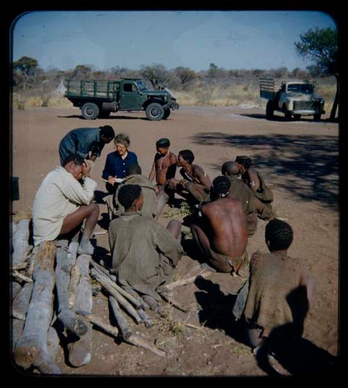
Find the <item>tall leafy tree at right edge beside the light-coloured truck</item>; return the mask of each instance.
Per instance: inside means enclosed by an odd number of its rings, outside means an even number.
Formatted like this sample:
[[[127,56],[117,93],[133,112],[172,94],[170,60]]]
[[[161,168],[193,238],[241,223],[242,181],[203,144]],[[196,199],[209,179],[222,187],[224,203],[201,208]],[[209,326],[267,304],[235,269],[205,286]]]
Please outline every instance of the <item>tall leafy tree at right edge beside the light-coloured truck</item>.
[[[338,68],[338,33],[335,29],[310,29],[300,35],[300,42],[295,42],[296,51],[313,61],[324,74],[336,78],[336,94],[331,109],[330,120],[335,119],[340,96],[340,74]]]

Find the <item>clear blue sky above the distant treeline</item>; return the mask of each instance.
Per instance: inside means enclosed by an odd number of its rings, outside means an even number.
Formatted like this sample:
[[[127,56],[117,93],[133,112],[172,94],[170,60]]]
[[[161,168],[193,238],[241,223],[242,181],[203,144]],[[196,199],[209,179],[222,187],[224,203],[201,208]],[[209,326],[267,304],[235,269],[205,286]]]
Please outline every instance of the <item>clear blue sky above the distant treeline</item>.
[[[43,70],[139,70],[161,63],[207,70],[305,69],[294,42],[309,29],[337,28],[318,11],[36,11],[12,26],[12,59]]]

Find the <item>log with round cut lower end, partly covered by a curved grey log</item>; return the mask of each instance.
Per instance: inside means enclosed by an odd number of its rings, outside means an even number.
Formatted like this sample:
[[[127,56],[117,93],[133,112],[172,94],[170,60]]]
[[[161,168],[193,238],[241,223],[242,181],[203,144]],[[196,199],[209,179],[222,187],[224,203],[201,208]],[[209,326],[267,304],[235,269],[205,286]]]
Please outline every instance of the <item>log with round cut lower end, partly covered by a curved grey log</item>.
[[[92,286],[90,284],[89,277],[89,261],[90,256],[83,254],[77,258],[76,267],[79,268],[80,278],[79,284],[76,290],[76,297],[74,300],[74,311],[81,315],[88,315],[92,312]],[[92,355],[92,325],[86,322],[88,328],[86,334],[81,336],[80,339],[70,343],[69,349],[69,361],[73,366],[82,366],[88,364]]]

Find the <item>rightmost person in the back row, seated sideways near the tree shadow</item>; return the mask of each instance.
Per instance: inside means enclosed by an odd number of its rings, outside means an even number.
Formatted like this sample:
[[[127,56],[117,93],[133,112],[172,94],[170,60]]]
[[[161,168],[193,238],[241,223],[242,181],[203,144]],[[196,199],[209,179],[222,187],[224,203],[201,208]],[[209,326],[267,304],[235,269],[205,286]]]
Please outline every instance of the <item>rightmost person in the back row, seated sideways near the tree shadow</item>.
[[[264,183],[260,173],[251,169],[251,159],[247,156],[237,156],[235,162],[239,166],[239,173],[242,174],[242,182],[244,182],[251,191],[263,203],[271,203],[274,199],[271,189]]]

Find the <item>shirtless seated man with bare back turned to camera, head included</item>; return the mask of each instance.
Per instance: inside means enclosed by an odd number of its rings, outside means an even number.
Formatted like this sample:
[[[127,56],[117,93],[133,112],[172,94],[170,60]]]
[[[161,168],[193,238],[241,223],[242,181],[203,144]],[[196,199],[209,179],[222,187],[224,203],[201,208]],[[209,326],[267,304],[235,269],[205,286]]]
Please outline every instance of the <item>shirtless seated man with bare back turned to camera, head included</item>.
[[[248,238],[242,204],[227,197],[230,185],[226,176],[214,179],[212,202],[200,208],[200,220],[191,225],[191,232],[207,263],[235,276],[246,260]]]

